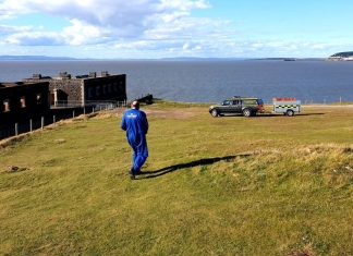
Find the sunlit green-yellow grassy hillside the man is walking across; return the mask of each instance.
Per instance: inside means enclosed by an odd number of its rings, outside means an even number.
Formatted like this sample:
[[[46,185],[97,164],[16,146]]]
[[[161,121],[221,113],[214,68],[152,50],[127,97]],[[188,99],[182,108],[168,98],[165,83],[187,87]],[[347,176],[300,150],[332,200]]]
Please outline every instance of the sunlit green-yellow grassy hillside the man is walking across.
[[[122,109],[2,143],[0,255],[353,255],[352,106],[142,109],[134,181]]]

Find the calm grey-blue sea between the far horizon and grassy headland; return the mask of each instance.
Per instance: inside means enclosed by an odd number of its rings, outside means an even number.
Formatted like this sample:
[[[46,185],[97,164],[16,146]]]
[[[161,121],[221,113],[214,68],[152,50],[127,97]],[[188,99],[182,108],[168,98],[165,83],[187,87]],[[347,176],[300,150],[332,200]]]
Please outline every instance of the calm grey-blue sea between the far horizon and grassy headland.
[[[296,97],[302,102],[353,101],[353,62],[324,61],[0,61],[0,82],[33,74],[72,76],[94,71],[127,75],[127,98],[219,102],[239,95]]]

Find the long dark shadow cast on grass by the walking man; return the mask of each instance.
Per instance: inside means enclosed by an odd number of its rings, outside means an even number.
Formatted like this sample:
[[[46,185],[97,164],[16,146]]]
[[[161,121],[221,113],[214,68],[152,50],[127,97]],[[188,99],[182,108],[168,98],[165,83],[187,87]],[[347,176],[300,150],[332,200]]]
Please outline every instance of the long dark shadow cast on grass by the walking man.
[[[179,163],[179,164],[174,164],[174,166],[170,166],[170,167],[165,167],[165,168],[159,169],[157,171],[144,171],[138,175],[137,179],[138,180],[153,179],[153,178],[161,176],[161,175],[165,175],[167,173],[178,171],[178,170],[181,170],[181,169],[185,169],[185,168],[211,164],[211,163],[219,162],[219,161],[231,161],[231,160],[235,159],[236,157],[244,158],[244,157],[249,157],[249,156],[251,156],[249,154],[243,154],[243,155],[226,156],[226,157],[203,158],[203,159],[191,161],[191,162],[185,162],[185,163]]]

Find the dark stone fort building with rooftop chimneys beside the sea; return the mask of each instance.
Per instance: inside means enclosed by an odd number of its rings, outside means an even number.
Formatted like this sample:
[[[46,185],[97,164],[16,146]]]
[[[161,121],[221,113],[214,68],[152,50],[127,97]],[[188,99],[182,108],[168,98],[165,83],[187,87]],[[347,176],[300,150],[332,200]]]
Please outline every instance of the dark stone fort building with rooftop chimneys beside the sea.
[[[0,126],[42,115],[57,107],[88,107],[97,102],[126,101],[126,75],[100,74],[71,76],[60,72],[59,76],[34,74],[20,82],[0,83]]]

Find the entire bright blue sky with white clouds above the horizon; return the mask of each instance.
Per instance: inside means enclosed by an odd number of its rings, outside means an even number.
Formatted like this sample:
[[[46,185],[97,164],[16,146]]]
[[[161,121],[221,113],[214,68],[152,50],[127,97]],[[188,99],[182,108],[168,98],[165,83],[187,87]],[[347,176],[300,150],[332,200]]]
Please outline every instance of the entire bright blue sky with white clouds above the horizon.
[[[326,58],[352,0],[0,0],[0,56]]]

